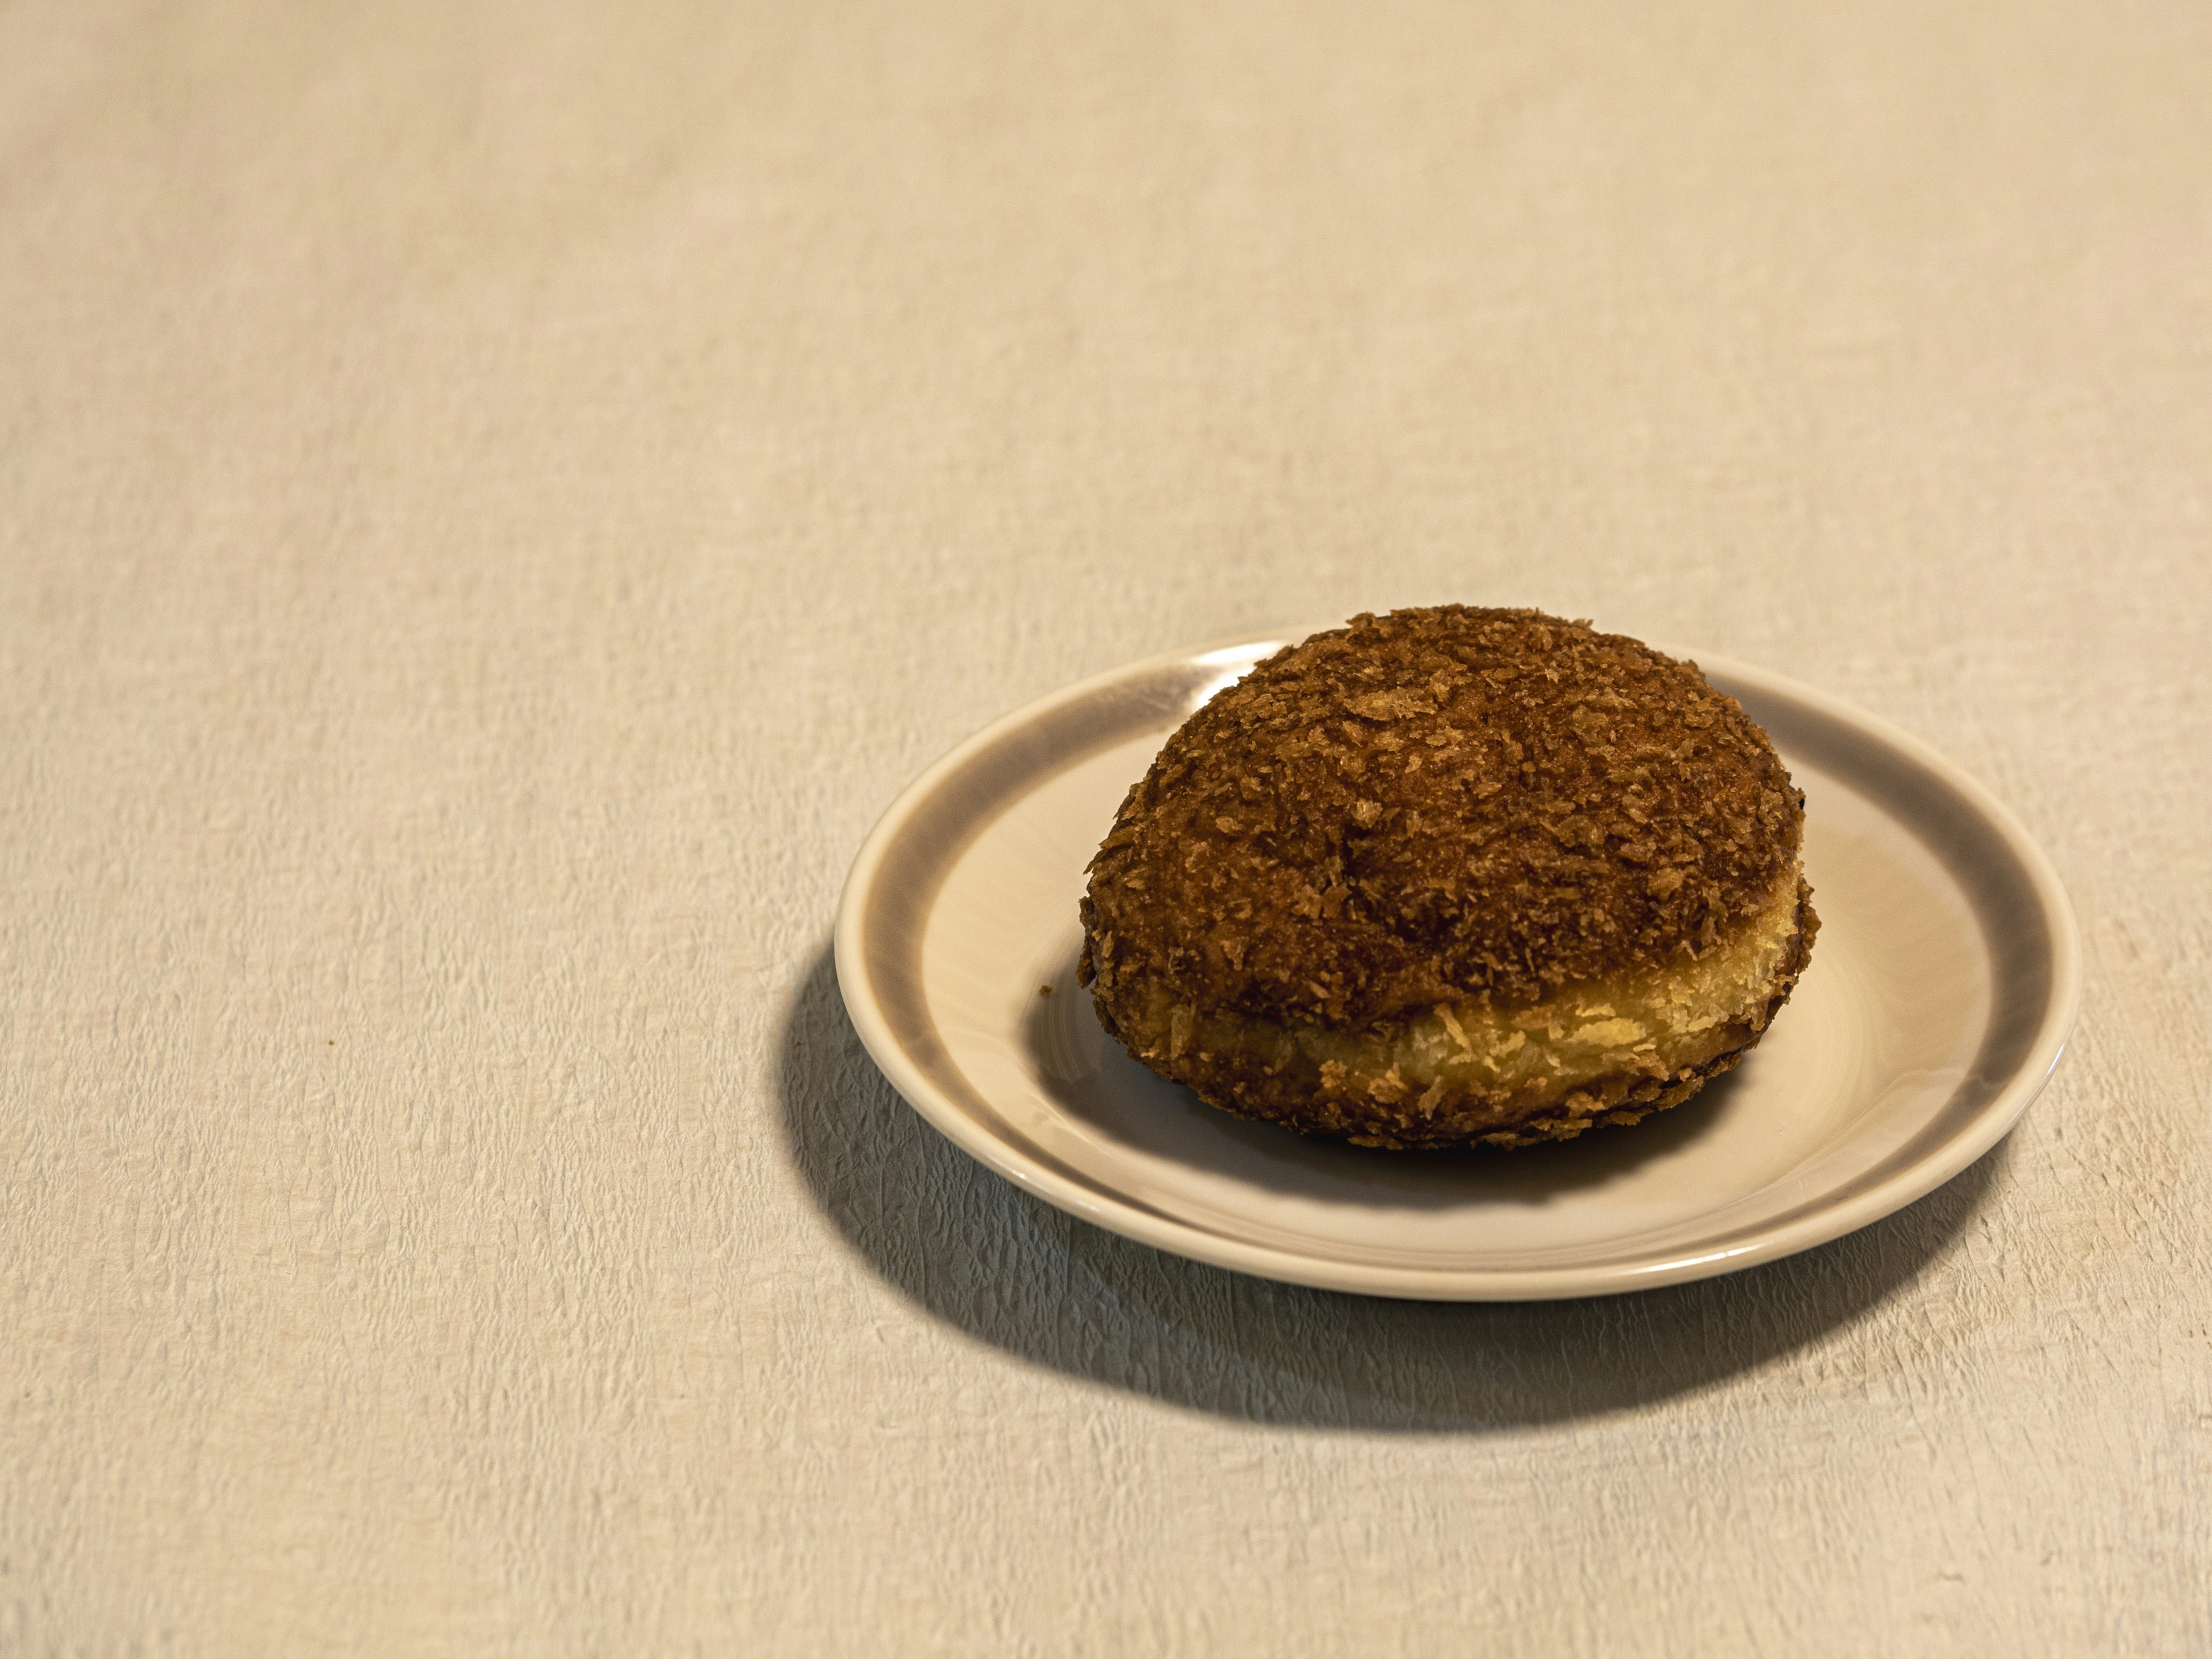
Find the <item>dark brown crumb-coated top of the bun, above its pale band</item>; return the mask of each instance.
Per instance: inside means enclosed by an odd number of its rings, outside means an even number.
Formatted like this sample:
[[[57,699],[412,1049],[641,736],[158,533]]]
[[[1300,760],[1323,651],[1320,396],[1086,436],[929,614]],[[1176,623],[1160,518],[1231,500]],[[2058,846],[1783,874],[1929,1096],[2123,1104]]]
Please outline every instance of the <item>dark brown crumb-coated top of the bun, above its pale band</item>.
[[[1084,967],[1360,1026],[1703,956],[1803,796],[1694,664],[1542,611],[1358,615],[1223,690],[1091,860]]]

